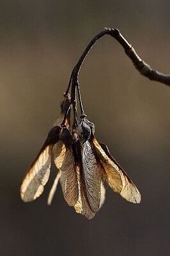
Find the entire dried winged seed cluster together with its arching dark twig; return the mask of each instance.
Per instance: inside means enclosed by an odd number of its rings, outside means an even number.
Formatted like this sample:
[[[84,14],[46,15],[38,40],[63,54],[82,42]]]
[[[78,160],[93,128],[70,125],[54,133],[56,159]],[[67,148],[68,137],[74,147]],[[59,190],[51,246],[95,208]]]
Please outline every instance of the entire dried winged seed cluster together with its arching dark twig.
[[[49,180],[52,154],[54,154],[54,163],[58,168],[58,173],[50,189],[47,203],[51,204],[59,182],[67,204],[88,220],[94,218],[104,204],[105,180],[114,192],[119,193],[129,202],[135,204],[141,202],[141,195],[134,182],[111,156],[107,146],[96,140],[95,125],[86,119],[82,106],[78,81],[79,70],[93,44],[104,35],[113,36],[123,45],[140,72],[142,67],[142,69],[148,70],[150,79],[154,78],[156,74],[161,81],[164,81],[164,74],[153,72],[144,61],[141,61],[118,29],[105,29],[99,33],[88,44],[77,65],[73,68],[60,106],[61,113],[55,126],[50,129],[38,156],[27,171],[20,188],[20,196],[24,202],[31,202],[38,198]],[[166,83],[169,83],[169,77],[166,77]],[[77,95],[81,111],[80,119],[77,115]],[[71,111],[73,111],[73,115],[71,115]],[[73,117],[73,122],[71,122],[71,117]]]

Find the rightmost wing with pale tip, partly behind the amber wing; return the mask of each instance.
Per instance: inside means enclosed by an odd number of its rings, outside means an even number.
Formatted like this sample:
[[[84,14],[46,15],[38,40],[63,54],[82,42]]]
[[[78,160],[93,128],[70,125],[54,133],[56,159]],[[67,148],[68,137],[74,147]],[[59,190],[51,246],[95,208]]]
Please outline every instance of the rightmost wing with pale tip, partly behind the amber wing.
[[[116,164],[116,166],[118,166],[122,182],[122,189],[120,191],[120,195],[129,202],[139,204],[141,202],[141,194],[136,188],[134,182],[132,182],[132,180],[128,177],[127,173],[125,173],[123,168],[121,168],[120,164],[118,164],[116,160],[111,156],[107,146],[104,143],[100,143],[100,146],[103,148],[105,154],[107,154],[109,159],[111,159],[111,161]]]

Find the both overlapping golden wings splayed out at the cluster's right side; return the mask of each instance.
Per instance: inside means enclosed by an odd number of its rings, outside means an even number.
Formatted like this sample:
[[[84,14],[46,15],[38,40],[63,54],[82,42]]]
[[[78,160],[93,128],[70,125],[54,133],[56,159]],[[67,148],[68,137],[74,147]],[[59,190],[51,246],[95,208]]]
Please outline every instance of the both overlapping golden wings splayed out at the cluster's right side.
[[[93,144],[104,165],[109,186],[129,202],[139,204],[141,202],[141,194],[127,173],[111,156],[107,146],[104,143],[99,144],[95,138],[93,138]]]

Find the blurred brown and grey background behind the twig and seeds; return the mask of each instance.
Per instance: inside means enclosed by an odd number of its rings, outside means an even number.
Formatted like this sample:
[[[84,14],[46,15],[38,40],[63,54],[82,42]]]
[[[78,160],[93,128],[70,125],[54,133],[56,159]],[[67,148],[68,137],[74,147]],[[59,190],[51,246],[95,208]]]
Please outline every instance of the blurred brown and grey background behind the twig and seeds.
[[[169,255],[169,88],[142,77],[104,36],[79,76],[88,119],[141,191],[134,205],[107,189],[91,221],[68,207],[58,186],[24,204],[24,173],[59,114],[72,68],[104,27],[119,28],[139,56],[170,73],[170,2],[1,1],[0,114],[2,256]]]

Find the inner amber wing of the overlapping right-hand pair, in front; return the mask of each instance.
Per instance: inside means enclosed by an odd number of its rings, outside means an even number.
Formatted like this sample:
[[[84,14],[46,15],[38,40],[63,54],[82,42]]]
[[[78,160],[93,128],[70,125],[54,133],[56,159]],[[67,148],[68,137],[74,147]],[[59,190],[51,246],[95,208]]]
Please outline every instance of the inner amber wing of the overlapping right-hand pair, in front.
[[[120,193],[123,188],[120,169],[108,156],[105,154],[104,149],[99,145],[96,138],[93,138],[93,147],[97,152],[102,165],[104,166],[106,179],[114,192]]]

